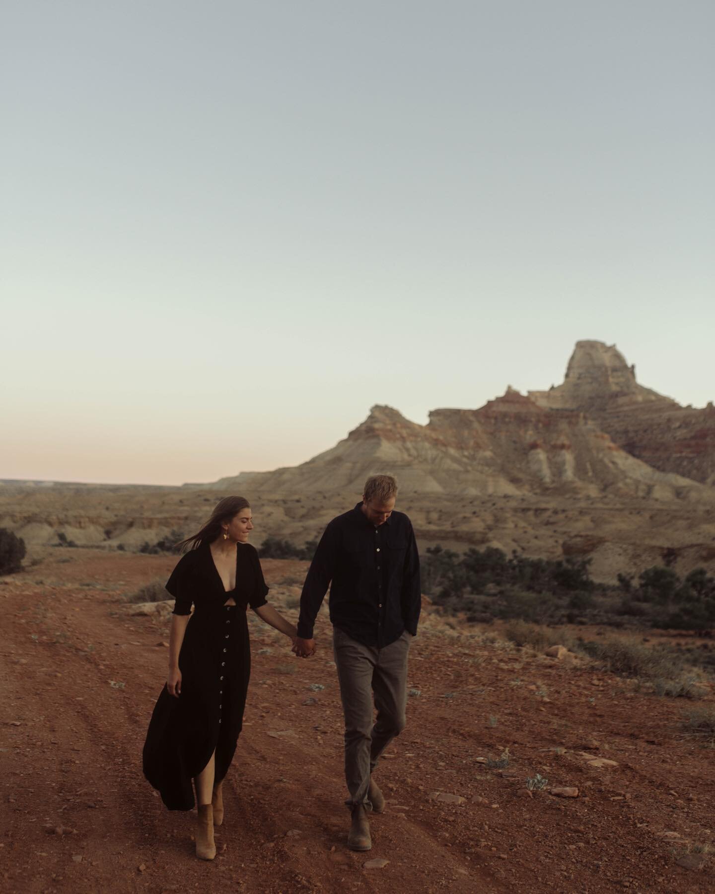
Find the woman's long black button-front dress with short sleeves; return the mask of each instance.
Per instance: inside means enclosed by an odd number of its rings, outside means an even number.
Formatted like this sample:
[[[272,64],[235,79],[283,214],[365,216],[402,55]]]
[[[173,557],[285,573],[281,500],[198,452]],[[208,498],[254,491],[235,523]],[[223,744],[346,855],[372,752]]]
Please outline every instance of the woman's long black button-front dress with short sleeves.
[[[236,586],[223,589],[208,544],[181,559],[166,583],[175,598],[173,613],[187,615],[194,604],[181,644],[181,695],[164,689],[149,721],[143,751],[147,780],[169,810],[191,810],[191,780],[215,755],[218,784],[231,765],[243,723],[250,674],[248,605],[265,605],[265,586],[258,553],[250,544],[236,547]],[[236,605],[226,605],[228,599]]]

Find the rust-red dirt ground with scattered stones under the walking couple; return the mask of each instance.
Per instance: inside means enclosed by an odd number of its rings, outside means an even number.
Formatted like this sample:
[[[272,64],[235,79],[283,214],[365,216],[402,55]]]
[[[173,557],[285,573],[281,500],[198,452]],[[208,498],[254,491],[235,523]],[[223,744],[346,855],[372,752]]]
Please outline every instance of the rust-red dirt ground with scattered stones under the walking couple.
[[[345,847],[327,612],[320,651],[307,661],[249,612],[245,728],[224,787],[219,854],[198,861],[195,814],[166,811],[141,774],[165,679],[166,624],[127,616],[122,601],[168,577],[173,562],[48,549],[38,566],[0,579],[0,886],[8,894],[715,890],[711,857],[696,853],[715,843],[715,752],[681,732],[687,704],[638,693],[586,663],[450,629],[429,610],[410,657],[409,686],[420,694],[379,770],[388,807],[372,819],[369,854]],[[305,563],[264,567],[283,611],[279,582],[298,583]],[[502,771],[477,761],[505,748]],[[618,766],[593,768],[579,752]],[[528,797],[525,780],[536,772],[580,796]],[[466,800],[442,803],[434,792]],[[688,851],[699,868],[677,863]],[[389,863],[364,868],[374,858]]]

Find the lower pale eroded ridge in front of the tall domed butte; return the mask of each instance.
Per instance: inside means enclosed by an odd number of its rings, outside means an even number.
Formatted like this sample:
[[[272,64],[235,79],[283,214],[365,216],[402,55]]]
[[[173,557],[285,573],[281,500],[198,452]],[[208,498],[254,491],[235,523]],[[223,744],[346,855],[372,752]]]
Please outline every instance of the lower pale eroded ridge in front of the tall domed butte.
[[[429,423],[375,406],[340,443],[293,468],[250,477],[253,493],[360,493],[366,477],[398,477],[401,493],[563,493],[707,498],[699,485],[622,450],[577,409],[551,409],[514,389],[481,409],[438,409]],[[223,486],[242,485],[240,477]]]

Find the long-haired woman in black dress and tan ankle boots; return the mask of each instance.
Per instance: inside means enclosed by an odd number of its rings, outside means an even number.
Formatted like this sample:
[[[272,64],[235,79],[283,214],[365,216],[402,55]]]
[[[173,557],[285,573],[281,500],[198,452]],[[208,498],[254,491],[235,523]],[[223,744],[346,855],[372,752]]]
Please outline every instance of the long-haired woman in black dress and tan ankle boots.
[[[198,534],[166,589],[175,598],[169,674],[149,722],[147,780],[169,810],[198,801],[196,856],[213,860],[214,824],[223,822],[223,778],[231,765],[250,673],[247,606],[295,644],[296,628],[265,601],[268,587],[255,547],[248,500],[226,497]],[[190,614],[191,603],[194,613]]]

